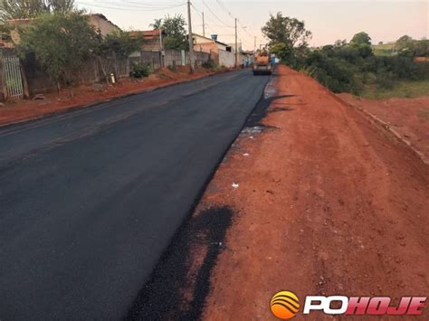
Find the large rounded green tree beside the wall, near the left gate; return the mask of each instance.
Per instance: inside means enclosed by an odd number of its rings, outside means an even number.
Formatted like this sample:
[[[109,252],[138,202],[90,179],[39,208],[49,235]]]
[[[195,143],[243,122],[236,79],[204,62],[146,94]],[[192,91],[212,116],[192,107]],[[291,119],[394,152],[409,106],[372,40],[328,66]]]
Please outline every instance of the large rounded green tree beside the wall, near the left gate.
[[[72,84],[94,51],[97,33],[81,14],[43,14],[22,31],[18,52],[35,61],[56,82]]]

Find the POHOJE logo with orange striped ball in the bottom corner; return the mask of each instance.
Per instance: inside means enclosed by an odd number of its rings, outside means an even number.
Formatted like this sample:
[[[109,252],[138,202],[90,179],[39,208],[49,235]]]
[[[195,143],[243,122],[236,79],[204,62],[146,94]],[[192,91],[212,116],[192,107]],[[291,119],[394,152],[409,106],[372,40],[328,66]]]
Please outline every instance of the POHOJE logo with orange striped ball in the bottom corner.
[[[390,297],[308,296],[302,315],[321,311],[336,316],[421,316],[427,297],[402,297],[396,305]],[[272,314],[286,320],[300,313],[298,297],[289,292],[278,292],[271,301]]]

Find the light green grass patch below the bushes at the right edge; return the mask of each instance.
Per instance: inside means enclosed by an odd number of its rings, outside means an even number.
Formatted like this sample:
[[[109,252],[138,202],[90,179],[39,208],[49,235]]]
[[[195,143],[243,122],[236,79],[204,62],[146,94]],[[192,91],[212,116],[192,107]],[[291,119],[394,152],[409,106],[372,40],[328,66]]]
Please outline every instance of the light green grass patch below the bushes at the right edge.
[[[367,85],[359,96],[367,99],[416,98],[429,95],[429,80],[400,81],[391,89]]]

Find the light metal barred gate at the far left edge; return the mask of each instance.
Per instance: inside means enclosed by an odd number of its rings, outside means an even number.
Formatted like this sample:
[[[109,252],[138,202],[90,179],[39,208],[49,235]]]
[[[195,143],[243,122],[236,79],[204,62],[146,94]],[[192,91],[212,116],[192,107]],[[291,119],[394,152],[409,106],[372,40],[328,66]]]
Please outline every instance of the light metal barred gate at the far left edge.
[[[12,55],[3,56],[2,67],[5,99],[23,99],[24,86],[19,58]]]

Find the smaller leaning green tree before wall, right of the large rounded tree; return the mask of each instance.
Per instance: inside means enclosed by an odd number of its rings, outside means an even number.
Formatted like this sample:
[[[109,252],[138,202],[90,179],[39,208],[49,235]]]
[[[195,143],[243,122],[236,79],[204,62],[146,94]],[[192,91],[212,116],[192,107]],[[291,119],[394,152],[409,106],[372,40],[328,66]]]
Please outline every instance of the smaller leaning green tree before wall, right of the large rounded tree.
[[[102,38],[99,34],[95,55],[100,62],[101,71],[109,85],[109,75],[117,61],[126,61],[132,52],[140,48],[140,39],[131,38],[129,33],[116,32]]]

